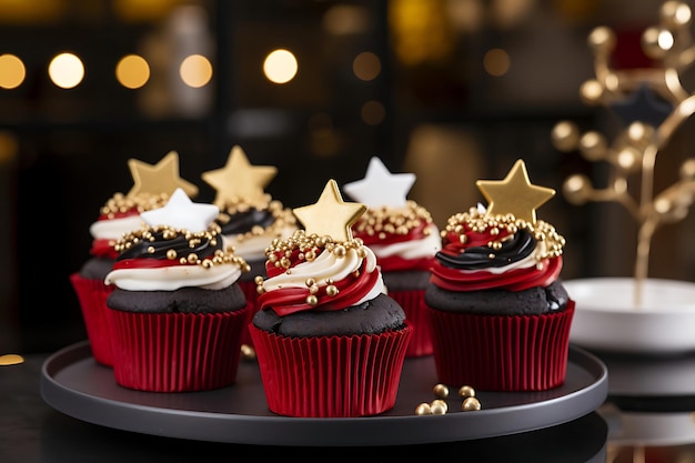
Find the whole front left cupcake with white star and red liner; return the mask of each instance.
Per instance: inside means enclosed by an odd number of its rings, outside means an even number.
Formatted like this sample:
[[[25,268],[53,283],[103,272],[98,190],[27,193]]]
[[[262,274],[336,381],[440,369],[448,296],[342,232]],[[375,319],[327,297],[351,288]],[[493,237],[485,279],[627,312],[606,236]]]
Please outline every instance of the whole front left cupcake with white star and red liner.
[[[115,286],[107,306],[118,384],[189,392],[235,381],[250,314],[238,281],[249,269],[224,250],[218,213],[177,189],[117,242],[105,283]]]

